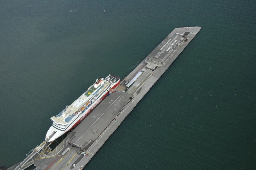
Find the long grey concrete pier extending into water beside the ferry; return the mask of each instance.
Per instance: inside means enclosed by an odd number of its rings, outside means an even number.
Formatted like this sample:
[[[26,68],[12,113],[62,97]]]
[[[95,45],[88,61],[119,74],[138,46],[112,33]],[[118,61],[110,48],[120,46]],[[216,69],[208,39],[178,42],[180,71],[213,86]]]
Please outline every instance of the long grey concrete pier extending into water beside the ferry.
[[[9,170],[83,169],[200,30],[175,28],[52,152],[43,142]]]

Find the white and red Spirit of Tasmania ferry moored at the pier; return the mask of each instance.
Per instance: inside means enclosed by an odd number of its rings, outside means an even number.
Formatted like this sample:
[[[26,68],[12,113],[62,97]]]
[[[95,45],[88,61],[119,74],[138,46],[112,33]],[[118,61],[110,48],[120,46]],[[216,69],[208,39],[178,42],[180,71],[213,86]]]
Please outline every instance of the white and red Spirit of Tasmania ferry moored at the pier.
[[[48,130],[45,141],[55,139],[78,125],[90,112],[109,94],[111,89],[120,85],[120,78],[109,75],[105,79],[99,78],[71,105],[67,106],[57,116],[53,116],[52,126]]]

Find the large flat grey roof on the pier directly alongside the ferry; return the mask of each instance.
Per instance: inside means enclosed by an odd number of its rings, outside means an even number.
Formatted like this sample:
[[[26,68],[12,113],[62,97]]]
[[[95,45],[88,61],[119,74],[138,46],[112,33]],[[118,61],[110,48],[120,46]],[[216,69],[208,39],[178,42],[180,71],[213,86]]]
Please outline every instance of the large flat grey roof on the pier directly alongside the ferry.
[[[131,96],[120,91],[112,93],[71,132],[68,142],[86,150],[131,100]]]

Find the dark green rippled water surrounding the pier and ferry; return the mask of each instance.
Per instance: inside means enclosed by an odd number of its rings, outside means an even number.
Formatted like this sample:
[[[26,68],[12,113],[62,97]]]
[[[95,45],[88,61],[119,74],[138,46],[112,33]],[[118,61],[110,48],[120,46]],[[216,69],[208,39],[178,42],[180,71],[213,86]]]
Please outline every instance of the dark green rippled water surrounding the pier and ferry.
[[[256,169],[255,1],[0,4],[0,165],[96,78],[125,77],[175,27],[200,26],[86,169]]]

